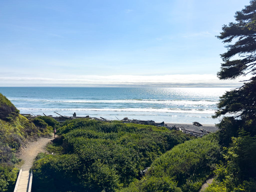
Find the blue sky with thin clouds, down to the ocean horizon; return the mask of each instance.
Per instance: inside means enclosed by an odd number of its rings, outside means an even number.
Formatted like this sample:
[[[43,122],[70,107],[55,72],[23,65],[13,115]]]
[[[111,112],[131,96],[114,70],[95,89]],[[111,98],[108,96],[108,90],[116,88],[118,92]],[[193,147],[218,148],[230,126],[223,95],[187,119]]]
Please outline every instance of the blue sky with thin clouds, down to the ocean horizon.
[[[216,78],[226,48],[215,36],[245,5],[1,1],[0,87],[237,87]]]

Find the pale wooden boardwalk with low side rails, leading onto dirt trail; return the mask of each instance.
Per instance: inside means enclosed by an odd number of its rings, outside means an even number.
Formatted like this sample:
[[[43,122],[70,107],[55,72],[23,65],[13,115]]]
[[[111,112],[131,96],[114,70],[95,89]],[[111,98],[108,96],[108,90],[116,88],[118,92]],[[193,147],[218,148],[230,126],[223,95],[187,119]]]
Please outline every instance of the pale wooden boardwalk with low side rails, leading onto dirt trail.
[[[31,192],[33,170],[20,169],[14,192]]]

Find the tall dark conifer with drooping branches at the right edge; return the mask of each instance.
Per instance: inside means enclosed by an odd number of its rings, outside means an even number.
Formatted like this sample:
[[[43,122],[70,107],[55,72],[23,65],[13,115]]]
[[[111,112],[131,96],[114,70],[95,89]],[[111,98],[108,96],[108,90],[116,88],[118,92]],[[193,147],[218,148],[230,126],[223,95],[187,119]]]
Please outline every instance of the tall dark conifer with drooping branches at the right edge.
[[[223,43],[236,41],[226,45],[227,52],[220,55],[224,63],[221,63],[217,76],[223,80],[252,76],[242,87],[227,91],[217,104],[218,110],[213,118],[226,115],[218,124],[226,143],[232,136],[237,136],[239,130],[256,135],[256,0],[236,12],[235,19],[237,22],[223,25],[217,36]],[[233,56],[240,59],[231,60]]]

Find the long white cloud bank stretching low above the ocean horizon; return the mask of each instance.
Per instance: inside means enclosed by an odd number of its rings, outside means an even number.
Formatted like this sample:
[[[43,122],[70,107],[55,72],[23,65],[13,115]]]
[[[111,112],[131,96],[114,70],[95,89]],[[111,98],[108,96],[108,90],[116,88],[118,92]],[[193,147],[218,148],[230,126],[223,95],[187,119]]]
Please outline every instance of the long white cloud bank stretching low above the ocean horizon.
[[[239,80],[219,80],[215,74],[162,76],[70,75],[58,78],[0,77],[0,87],[239,87],[241,85],[242,82],[239,82]]]

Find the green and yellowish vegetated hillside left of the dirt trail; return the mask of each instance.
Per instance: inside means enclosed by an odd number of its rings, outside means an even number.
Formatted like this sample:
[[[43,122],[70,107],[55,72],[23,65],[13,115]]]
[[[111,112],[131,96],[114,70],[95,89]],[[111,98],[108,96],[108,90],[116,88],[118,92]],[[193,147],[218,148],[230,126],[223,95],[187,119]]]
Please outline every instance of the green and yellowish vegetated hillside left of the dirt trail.
[[[42,120],[43,121],[43,120]],[[39,123],[40,124],[40,123]],[[0,93],[0,191],[13,191],[22,159],[15,155],[26,142],[49,136],[52,127],[36,120],[29,121]]]

